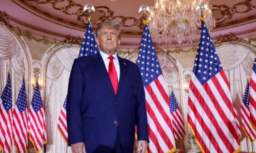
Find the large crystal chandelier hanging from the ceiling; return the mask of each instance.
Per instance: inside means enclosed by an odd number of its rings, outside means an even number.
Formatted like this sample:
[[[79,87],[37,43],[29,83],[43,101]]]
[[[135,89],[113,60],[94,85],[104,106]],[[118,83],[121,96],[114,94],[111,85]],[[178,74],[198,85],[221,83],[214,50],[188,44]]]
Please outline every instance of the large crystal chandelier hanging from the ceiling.
[[[164,44],[190,44],[201,27],[201,16],[212,31],[212,5],[203,0],[155,0],[150,7],[148,27],[152,37]]]

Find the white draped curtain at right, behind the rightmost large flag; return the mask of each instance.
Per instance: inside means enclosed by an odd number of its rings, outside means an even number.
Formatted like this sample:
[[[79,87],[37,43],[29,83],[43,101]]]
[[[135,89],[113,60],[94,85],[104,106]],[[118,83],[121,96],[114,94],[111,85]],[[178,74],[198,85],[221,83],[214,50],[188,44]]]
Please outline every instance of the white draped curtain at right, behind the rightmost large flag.
[[[241,125],[241,103],[246,87],[246,80],[251,76],[255,54],[253,50],[240,44],[229,44],[216,48],[221,64],[230,84],[231,97],[238,111]],[[251,143],[241,128],[240,152],[256,152],[256,142]]]

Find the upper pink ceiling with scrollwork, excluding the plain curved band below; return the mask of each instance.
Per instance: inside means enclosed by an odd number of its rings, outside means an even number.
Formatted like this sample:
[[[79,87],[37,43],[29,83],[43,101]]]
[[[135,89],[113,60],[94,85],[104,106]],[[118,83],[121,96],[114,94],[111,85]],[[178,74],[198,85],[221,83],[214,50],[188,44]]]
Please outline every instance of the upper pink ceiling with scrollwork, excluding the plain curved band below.
[[[141,31],[142,16],[138,13],[139,6],[154,5],[154,1],[109,1],[109,0],[12,0],[25,10],[52,22],[63,24],[74,29],[85,29],[87,12],[83,6],[91,3],[96,6],[96,12],[91,13],[94,26],[102,21],[113,20],[122,24],[124,31]],[[213,16],[216,19],[216,29],[234,24],[245,24],[256,19],[255,0],[211,0]]]

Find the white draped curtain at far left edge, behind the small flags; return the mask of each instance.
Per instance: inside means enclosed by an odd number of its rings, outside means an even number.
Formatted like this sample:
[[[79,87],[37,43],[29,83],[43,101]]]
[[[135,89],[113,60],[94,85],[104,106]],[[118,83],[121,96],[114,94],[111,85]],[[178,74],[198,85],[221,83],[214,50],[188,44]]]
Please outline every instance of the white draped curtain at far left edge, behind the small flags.
[[[12,105],[14,108],[23,75],[25,75],[27,99],[29,99],[29,58],[27,58],[26,48],[23,48],[20,43],[20,38],[0,22],[0,95],[7,82],[8,71],[11,74]],[[12,152],[16,152],[14,146]]]

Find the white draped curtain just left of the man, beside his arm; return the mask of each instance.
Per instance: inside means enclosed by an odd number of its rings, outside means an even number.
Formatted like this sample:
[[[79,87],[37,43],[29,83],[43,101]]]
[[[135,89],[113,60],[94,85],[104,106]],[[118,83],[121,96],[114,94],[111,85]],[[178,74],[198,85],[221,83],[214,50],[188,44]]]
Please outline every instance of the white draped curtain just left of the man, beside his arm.
[[[71,153],[66,142],[57,131],[59,112],[68,92],[68,79],[74,59],[78,57],[79,48],[62,48],[53,51],[46,65],[46,152]]]

